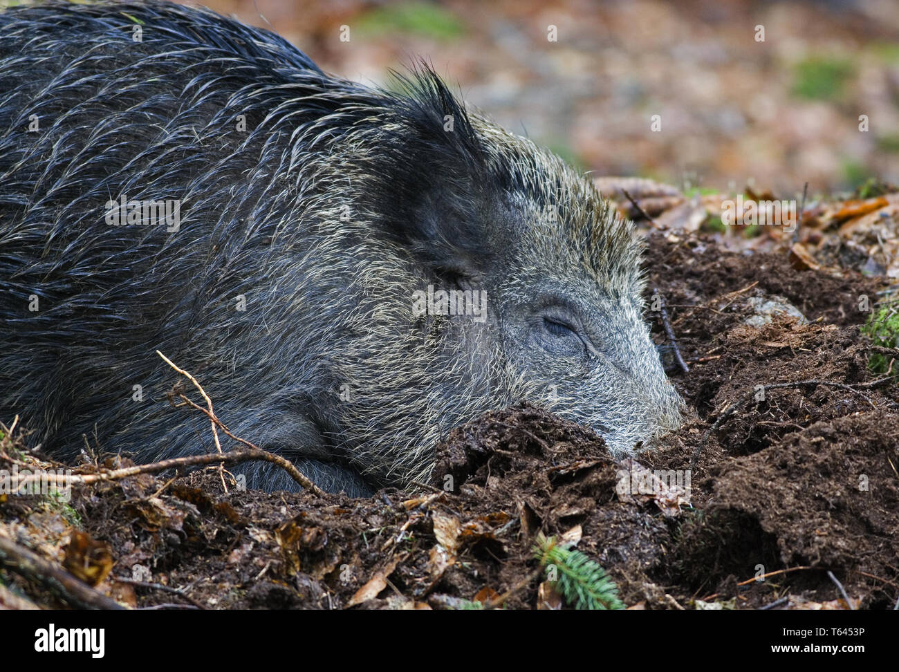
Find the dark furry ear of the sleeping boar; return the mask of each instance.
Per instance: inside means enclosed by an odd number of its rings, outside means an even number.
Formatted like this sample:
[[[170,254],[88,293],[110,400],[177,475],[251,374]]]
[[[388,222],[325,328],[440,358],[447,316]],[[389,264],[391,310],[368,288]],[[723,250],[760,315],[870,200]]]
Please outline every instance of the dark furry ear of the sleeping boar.
[[[389,234],[435,275],[473,278],[490,264],[486,153],[465,108],[428,66],[395,75],[398,130],[388,140]]]

